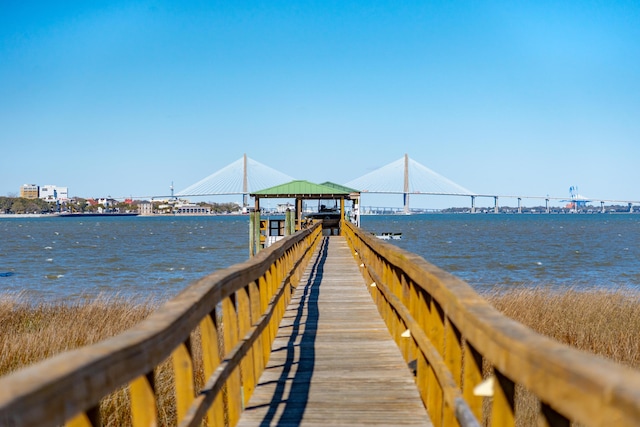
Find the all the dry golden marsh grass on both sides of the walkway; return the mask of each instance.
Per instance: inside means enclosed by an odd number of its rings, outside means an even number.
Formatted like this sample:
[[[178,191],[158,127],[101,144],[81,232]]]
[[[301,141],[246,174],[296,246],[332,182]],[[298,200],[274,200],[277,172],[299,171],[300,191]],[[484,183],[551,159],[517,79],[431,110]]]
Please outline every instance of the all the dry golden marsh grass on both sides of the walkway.
[[[525,289],[496,291],[485,297],[507,316],[541,334],[640,368],[637,332],[640,331],[640,293]],[[33,306],[19,297],[0,296],[0,375],[116,335],[147,317],[155,308],[154,303],[134,304],[118,297]],[[198,338],[193,337],[194,341]],[[201,371],[201,367],[197,369]],[[156,377],[161,395],[160,423],[175,423],[170,370],[161,367]],[[200,372],[196,377],[199,383],[204,380]],[[518,389],[516,405],[518,425],[535,423],[537,404],[532,396]],[[120,391],[108,398],[102,412],[105,425],[127,424],[126,392]],[[116,412],[119,415],[115,415]]]

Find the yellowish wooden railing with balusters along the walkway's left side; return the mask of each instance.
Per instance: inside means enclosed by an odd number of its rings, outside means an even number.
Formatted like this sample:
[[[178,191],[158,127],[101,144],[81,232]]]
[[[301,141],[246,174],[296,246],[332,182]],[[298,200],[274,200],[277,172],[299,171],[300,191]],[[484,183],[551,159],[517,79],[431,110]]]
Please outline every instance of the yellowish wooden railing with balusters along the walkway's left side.
[[[288,236],[194,282],[121,335],[0,379],[0,425],[100,425],[100,401],[124,386],[131,424],[156,425],[154,370],[168,358],[180,425],[205,417],[209,425],[235,425],[320,236],[319,225]],[[201,348],[194,348],[196,332]],[[195,362],[205,381],[197,392]]]

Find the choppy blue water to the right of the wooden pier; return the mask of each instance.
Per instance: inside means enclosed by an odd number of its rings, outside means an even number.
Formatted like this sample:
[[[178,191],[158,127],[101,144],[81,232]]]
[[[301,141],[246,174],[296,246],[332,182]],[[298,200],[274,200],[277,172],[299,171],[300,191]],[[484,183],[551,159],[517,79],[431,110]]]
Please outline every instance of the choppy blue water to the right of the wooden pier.
[[[478,291],[640,285],[640,215],[372,216],[362,227],[401,232],[394,244]]]

